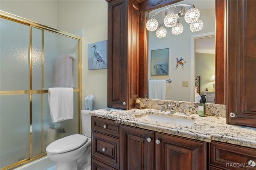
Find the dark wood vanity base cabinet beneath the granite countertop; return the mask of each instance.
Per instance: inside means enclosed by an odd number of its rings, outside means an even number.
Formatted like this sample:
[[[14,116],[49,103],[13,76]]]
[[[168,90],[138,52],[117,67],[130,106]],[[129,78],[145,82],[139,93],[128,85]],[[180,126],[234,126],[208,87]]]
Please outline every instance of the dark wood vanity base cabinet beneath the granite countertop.
[[[93,122],[100,124],[95,128]],[[100,128],[104,125],[112,127]],[[254,148],[207,143],[92,117],[92,170],[256,170],[250,162],[256,162]]]

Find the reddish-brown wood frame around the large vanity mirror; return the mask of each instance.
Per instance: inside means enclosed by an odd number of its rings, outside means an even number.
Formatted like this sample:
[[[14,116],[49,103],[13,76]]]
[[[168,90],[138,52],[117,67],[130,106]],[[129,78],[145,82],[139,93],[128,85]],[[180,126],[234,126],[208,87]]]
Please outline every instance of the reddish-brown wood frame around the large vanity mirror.
[[[148,30],[147,12],[182,0],[147,0],[139,4],[139,97],[148,98]],[[226,0],[215,1],[215,103],[225,104],[225,12]]]

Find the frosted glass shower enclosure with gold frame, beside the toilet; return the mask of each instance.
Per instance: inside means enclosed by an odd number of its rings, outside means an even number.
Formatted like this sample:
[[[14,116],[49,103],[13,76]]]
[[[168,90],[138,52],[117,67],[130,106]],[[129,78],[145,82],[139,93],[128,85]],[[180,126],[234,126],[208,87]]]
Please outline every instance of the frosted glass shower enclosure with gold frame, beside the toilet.
[[[1,169],[42,158],[48,144],[81,131],[81,47],[81,37],[0,11]],[[52,123],[50,87],[74,88],[74,119]]]

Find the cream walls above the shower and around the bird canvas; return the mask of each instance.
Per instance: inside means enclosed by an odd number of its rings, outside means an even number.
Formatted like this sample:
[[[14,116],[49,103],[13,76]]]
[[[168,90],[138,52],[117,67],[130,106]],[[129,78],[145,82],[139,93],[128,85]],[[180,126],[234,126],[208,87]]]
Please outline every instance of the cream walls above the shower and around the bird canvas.
[[[94,109],[107,106],[107,69],[88,70],[90,43],[108,38],[108,3],[105,0],[1,0],[0,10],[70,32],[84,29],[82,45],[82,109],[84,98],[96,97]]]

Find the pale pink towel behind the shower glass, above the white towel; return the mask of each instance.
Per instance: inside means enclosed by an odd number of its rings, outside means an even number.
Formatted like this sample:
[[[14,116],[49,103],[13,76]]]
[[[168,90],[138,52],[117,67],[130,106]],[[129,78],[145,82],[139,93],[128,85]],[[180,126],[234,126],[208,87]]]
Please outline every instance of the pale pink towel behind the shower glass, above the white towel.
[[[73,58],[62,55],[55,59],[54,87],[74,87]]]

